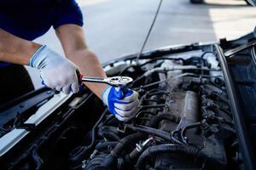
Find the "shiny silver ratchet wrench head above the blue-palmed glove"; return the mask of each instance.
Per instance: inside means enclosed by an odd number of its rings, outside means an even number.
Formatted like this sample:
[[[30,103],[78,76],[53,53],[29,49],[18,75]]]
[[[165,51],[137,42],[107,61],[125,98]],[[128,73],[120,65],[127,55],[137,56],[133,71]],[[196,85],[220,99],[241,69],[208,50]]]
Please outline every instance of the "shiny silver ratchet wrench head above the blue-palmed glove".
[[[106,82],[108,82],[108,84],[113,87],[124,87],[132,81],[133,81],[133,79],[131,77],[108,77],[108,78],[106,78]]]

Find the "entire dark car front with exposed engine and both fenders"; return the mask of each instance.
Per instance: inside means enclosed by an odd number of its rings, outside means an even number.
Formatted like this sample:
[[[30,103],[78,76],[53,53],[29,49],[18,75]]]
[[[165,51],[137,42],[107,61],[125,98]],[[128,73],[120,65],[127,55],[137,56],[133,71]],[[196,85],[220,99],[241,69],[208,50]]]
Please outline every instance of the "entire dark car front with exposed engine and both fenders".
[[[119,122],[101,99],[39,89],[0,107],[3,169],[255,169],[253,33],[154,49],[103,65],[140,105]]]

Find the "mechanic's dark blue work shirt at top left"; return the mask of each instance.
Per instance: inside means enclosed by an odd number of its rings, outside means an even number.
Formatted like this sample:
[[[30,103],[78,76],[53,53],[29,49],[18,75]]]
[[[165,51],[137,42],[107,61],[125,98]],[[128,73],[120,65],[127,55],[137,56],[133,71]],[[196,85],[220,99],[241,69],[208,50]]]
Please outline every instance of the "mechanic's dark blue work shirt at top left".
[[[0,0],[0,28],[32,41],[49,28],[83,26],[83,15],[75,0]],[[6,63],[0,63],[0,67]]]

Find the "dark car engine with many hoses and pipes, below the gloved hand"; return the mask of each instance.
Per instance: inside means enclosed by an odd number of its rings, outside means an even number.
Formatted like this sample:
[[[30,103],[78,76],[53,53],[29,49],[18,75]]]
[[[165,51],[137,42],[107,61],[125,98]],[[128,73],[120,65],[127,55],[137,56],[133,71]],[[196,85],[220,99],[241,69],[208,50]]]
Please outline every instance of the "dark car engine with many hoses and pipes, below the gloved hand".
[[[195,50],[105,66],[128,76],[139,94],[137,116],[108,112],[69,155],[71,169],[233,169],[240,159],[218,57]]]

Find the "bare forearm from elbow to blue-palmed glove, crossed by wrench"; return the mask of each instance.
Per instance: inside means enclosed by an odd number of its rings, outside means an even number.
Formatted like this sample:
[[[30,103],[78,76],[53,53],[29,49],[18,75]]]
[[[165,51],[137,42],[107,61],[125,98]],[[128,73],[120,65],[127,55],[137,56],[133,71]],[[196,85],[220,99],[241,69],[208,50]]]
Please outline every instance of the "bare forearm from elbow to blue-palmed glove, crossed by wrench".
[[[67,58],[72,60],[74,64],[79,66],[80,73],[84,77],[107,77],[102,70],[102,65],[89,49],[79,49],[67,54]],[[107,87],[106,84],[84,82],[99,98],[101,98],[102,91]]]

